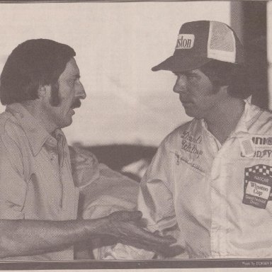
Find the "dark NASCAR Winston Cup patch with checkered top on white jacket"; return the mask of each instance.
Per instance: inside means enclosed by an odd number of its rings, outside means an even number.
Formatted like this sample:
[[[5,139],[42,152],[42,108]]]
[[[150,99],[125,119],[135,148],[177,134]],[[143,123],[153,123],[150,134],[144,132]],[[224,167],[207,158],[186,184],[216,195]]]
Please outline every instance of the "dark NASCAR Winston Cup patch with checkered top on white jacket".
[[[272,166],[258,164],[244,169],[243,203],[265,209],[272,200]]]

